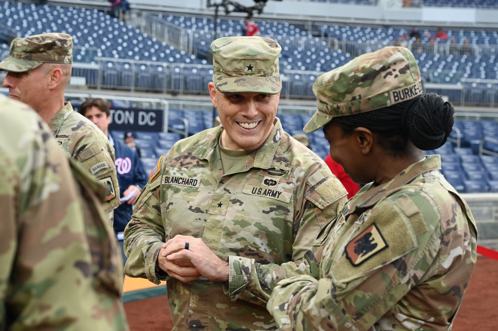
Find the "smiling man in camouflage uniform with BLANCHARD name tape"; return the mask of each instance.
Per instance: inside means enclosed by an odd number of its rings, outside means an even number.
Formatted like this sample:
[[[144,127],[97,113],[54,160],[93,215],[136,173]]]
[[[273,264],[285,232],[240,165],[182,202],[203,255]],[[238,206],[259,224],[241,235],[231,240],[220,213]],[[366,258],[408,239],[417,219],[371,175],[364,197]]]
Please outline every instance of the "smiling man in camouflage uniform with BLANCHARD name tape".
[[[223,125],[159,159],[125,229],[125,272],[166,280],[175,330],[276,330],[271,289],[347,199],[276,117],[281,50],[263,37],[211,43]]]

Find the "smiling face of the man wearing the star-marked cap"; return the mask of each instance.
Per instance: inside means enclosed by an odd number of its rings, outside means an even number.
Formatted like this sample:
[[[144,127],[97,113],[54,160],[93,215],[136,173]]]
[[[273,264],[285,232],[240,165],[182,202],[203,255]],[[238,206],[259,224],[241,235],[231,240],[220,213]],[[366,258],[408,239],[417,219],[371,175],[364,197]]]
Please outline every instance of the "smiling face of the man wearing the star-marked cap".
[[[209,92],[223,124],[224,148],[250,150],[265,142],[273,129],[280,93],[221,93],[212,83]]]

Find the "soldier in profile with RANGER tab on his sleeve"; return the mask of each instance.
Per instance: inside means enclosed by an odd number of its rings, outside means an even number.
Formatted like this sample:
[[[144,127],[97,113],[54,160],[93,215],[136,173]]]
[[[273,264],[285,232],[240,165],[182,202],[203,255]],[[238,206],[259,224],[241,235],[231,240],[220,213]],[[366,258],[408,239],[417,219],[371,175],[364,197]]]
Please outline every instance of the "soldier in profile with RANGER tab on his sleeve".
[[[109,188],[104,207],[112,223],[113,210],[119,205],[114,148],[98,127],[64,102],[72,51],[73,39],[65,33],[15,38],[8,57],[0,62],[0,70],[7,71],[3,87],[10,98],[36,110],[66,154]]]

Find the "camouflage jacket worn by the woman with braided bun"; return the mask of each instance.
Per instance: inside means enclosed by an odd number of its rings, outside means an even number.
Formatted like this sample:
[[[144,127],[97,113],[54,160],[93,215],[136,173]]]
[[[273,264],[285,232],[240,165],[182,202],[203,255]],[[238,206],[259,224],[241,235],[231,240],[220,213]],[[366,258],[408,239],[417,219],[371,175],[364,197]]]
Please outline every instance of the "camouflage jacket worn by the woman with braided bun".
[[[477,229],[439,168],[429,156],[349,200],[272,293],[267,308],[282,330],[451,330]]]

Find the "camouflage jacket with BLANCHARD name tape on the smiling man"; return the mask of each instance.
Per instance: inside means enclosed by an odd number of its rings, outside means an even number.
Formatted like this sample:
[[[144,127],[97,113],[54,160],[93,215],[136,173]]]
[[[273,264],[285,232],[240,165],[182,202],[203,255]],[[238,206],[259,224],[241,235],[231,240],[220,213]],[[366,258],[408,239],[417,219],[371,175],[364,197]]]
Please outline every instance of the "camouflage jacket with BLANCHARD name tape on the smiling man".
[[[271,289],[341,210],[346,192],[278,119],[263,146],[224,174],[221,132],[180,140],[151,172],[125,229],[125,273],[159,283],[162,243],[177,234],[202,238],[229,262],[228,286],[167,278],[173,330],[277,330],[265,309]]]

